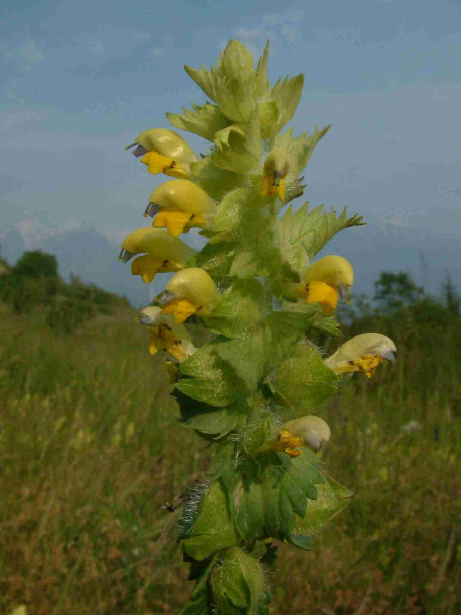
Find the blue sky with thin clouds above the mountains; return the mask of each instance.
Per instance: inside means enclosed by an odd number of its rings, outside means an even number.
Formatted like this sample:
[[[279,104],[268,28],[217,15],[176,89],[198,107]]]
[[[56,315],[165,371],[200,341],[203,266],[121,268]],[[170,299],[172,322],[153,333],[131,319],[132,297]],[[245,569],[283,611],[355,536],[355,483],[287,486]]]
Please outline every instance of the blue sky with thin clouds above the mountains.
[[[145,224],[164,181],[124,146],[165,111],[202,103],[186,63],[229,38],[269,76],[305,74],[296,133],[333,124],[299,205],[461,238],[459,0],[68,1],[3,4],[1,219],[31,237],[94,224],[114,242]],[[184,134],[195,151],[207,141]]]

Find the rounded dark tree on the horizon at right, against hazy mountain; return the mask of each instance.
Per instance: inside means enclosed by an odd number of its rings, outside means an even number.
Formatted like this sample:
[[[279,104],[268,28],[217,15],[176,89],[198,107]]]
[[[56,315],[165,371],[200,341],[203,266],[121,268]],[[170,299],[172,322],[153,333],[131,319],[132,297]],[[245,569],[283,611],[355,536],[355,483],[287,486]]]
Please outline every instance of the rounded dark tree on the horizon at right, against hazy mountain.
[[[402,308],[424,297],[424,288],[417,286],[411,276],[402,271],[382,271],[379,280],[374,283],[374,288],[374,301],[387,310]]]

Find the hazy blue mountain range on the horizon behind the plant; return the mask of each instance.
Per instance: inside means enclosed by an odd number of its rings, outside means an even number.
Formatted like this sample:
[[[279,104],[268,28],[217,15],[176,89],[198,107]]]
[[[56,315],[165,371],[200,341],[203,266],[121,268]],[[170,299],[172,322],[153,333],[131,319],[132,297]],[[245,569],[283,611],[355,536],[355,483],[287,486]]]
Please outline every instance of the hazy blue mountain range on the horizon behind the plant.
[[[131,275],[129,263],[118,261],[119,244],[109,242],[89,224],[74,224],[73,228],[55,232],[40,229],[39,234],[31,223],[18,227],[4,229],[0,236],[1,254],[10,264],[24,250],[50,252],[57,257],[60,275],[65,279],[72,272],[84,282],[127,295],[136,307],[148,304],[149,296],[157,295],[169,277],[169,274],[159,274],[152,284],[144,284],[139,276]],[[455,286],[461,288],[461,240],[455,235],[441,235],[376,218],[366,226],[341,231],[319,256],[326,254],[342,255],[352,263],[353,290],[357,294],[372,295],[373,282],[382,271],[409,272],[417,284],[435,295],[439,294],[449,272]]]

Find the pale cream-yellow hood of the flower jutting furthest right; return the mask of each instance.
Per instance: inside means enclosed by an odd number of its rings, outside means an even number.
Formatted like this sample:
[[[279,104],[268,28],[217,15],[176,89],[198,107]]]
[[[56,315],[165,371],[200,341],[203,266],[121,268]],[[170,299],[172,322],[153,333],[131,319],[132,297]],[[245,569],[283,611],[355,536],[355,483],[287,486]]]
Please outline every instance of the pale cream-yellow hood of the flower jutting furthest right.
[[[333,371],[342,373],[345,365],[359,360],[364,355],[381,357],[393,363],[394,352],[396,352],[395,344],[387,336],[381,333],[361,333],[342,344],[331,357],[325,359],[325,365]]]

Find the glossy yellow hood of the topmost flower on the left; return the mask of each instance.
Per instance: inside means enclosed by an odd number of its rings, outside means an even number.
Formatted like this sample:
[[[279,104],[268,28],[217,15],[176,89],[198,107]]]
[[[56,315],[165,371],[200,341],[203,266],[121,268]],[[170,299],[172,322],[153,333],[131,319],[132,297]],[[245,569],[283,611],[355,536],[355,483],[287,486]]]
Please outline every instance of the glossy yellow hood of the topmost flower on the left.
[[[137,145],[133,154],[137,157],[144,156],[148,152],[156,152],[161,156],[169,158],[171,162],[176,164],[188,166],[191,162],[196,162],[192,149],[184,141],[183,137],[180,137],[173,130],[167,128],[151,128],[144,130],[138,137],[136,137],[135,143],[128,145],[125,151]],[[186,169],[188,170],[188,169]]]

